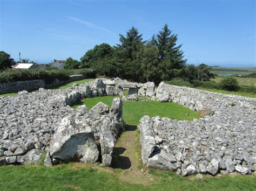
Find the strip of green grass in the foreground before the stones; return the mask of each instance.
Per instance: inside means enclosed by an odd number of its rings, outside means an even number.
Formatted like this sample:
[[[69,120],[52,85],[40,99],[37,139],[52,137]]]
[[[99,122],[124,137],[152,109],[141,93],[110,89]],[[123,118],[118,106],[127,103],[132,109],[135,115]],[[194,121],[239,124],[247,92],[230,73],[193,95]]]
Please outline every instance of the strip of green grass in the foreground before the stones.
[[[70,168],[72,164],[52,168],[42,166],[0,167],[1,190],[254,190],[255,176],[232,176],[197,180],[171,172],[151,171],[151,183],[139,184],[119,180],[118,172],[94,168]]]

